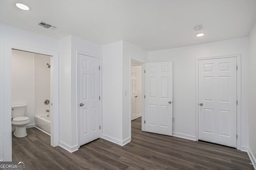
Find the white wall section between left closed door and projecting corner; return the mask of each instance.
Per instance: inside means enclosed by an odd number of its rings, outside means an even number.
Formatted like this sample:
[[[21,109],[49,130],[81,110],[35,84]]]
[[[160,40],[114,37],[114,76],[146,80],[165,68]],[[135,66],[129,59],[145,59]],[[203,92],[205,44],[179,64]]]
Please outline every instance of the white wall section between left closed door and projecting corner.
[[[102,45],[103,138],[122,145],[123,41]]]

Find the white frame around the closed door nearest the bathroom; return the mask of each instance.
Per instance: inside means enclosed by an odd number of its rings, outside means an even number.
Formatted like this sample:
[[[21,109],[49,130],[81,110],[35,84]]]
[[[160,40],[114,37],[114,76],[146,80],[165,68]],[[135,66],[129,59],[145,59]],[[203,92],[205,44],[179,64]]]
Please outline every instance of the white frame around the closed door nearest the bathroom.
[[[82,55],[87,55],[90,57],[95,57],[98,58],[100,60],[99,66],[100,66],[100,74],[99,74],[99,78],[100,78],[100,138],[102,138],[102,56],[100,55],[96,55],[96,54],[92,54],[92,53],[87,53],[84,51],[76,51],[76,124],[77,124],[77,129],[78,129],[78,135],[77,135],[77,141],[78,141],[78,148],[80,148],[80,126],[79,126],[79,54]]]

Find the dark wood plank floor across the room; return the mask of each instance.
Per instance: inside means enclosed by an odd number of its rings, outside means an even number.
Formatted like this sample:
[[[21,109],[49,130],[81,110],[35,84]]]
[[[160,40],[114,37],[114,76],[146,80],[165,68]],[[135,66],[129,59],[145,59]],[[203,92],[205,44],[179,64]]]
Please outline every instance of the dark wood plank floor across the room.
[[[141,118],[132,121],[132,141],[121,147],[97,139],[70,153],[50,146],[50,136],[36,128],[28,136],[12,134],[12,160],[24,161],[27,170],[60,169],[237,169],[253,170],[246,152],[141,131]]]

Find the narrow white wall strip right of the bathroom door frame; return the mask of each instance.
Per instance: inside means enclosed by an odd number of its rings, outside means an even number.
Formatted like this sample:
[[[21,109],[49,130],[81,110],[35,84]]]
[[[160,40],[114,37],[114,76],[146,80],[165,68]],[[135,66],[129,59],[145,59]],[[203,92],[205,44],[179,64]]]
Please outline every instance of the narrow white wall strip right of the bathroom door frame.
[[[59,141],[71,149],[71,36],[59,41],[59,49]]]

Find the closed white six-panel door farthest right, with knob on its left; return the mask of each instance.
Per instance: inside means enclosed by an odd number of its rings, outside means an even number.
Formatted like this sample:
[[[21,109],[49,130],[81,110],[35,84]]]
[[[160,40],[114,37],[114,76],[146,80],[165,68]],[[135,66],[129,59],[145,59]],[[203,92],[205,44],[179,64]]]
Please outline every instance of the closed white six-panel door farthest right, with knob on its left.
[[[198,139],[236,147],[236,57],[198,61]]]

